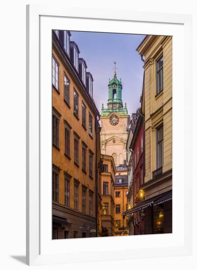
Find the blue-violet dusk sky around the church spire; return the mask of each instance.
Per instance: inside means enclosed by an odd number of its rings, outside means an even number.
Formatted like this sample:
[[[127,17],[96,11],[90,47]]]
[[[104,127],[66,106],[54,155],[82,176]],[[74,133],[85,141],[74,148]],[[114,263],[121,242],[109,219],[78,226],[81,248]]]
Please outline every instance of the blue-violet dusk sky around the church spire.
[[[114,76],[114,61],[117,62],[117,78],[122,79],[123,106],[126,102],[128,113],[136,112],[140,106],[144,72],[136,48],[145,36],[78,31],[71,31],[71,34],[71,40],[79,47],[79,57],[85,59],[87,71],[93,75],[93,95],[99,112],[102,103],[107,108],[107,85]]]

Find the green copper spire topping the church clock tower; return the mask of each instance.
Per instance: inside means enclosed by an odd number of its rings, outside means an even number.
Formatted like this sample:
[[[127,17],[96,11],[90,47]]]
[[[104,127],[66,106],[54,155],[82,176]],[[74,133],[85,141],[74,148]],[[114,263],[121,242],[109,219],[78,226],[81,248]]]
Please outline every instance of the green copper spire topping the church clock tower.
[[[116,62],[114,61],[114,78],[109,80],[108,83],[108,102],[107,107],[104,109],[102,107],[101,115],[108,115],[112,111],[118,111],[120,114],[126,115],[128,114],[127,108],[123,108],[123,101],[122,101],[122,81],[117,79],[117,67]]]

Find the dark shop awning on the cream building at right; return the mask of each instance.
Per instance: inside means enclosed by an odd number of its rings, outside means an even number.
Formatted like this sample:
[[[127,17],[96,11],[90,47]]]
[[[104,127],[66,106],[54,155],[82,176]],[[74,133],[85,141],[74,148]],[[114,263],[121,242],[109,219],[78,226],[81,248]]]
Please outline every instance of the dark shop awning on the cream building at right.
[[[167,191],[163,194],[160,194],[160,195],[157,195],[155,197],[152,197],[148,200],[144,200],[142,201],[141,203],[139,203],[137,206],[133,207],[132,209],[126,211],[123,213],[124,216],[128,216],[134,212],[138,212],[138,211],[141,211],[147,207],[150,207],[150,206],[155,206],[155,205],[158,205],[158,204],[162,204],[162,203],[165,203],[169,200],[172,200],[172,190],[170,191]]]

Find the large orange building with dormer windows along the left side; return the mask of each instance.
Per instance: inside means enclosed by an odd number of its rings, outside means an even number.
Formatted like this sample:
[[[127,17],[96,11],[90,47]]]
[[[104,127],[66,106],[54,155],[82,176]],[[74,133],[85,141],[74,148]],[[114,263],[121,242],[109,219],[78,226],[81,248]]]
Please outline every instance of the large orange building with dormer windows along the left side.
[[[97,236],[100,204],[93,77],[70,38],[52,33],[52,239]]]

